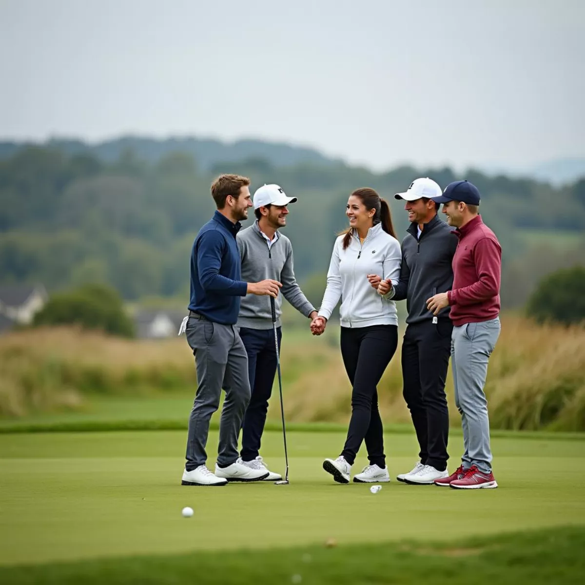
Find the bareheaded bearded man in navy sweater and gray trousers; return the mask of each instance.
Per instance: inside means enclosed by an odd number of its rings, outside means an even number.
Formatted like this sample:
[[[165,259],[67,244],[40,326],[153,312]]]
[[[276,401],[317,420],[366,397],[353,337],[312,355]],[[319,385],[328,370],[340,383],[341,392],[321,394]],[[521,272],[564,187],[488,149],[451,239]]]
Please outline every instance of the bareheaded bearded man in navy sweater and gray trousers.
[[[236,234],[247,219],[250,180],[221,175],[211,185],[217,211],[197,234],[191,251],[191,301],[185,331],[197,365],[197,394],[189,418],[184,486],[223,486],[228,481],[258,481],[266,470],[250,469],[238,457],[238,436],[250,400],[247,355],[236,321],[240,297],[246,294],[276,297],[276,280],[242,280]],[[209,420],[225,401],[219,425],[215,473],[205,464]]]

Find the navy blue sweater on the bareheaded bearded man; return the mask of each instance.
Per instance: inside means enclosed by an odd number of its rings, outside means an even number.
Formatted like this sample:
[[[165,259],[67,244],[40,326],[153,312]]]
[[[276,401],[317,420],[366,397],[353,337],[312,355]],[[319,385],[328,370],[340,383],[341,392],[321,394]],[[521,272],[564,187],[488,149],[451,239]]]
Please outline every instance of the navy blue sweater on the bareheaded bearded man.
[[[242,267],[236,234],[241,225],[218,211],[199,230],[191,250],[191,302],[189,309],[209,321],[235,325],[240,297],[247,284],[241,280]]]

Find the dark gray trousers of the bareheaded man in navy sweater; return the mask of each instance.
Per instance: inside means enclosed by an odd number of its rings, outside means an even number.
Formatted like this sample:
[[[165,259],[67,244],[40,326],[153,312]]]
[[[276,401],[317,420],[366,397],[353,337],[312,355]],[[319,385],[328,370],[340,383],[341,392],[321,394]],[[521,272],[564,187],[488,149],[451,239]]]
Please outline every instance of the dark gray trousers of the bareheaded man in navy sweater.
[[[186,333],[195,356],[198,386],[189,418],[185,469],[192,471],[207,461],[209,420],[219,408],[222,388],[225,401],[219,422],[218,464],[226,467],[238,459],[238,437],[250,402],[246,348],[235,325],[191,317]]]

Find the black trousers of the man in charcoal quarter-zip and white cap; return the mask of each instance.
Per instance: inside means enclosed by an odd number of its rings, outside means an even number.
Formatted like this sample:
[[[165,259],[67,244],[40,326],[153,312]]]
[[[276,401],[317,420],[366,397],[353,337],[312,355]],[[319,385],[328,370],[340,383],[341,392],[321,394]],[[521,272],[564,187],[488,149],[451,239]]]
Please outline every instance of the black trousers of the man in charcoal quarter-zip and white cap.
[[[402,342],[402,394],[420,446],[421,463],[447,467],[449,412],[445,380],[451,353],[450,321],[408,325]]]

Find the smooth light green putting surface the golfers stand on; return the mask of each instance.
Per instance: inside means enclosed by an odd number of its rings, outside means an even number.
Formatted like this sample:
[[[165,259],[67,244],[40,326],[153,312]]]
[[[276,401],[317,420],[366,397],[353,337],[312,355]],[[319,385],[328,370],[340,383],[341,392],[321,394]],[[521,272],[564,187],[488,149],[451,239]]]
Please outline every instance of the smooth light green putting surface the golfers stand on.
[[[497,490],[393,480],[371,494],[367,485],[335,484],[322,470],[345,433],[297,431],[287,438],[290,486],[201,488],[180,485],[184,431],[0,435],[0,565],[287,548],[328,538],[340,545],[453,541],[585,525],[580,439],[494,438]],[[209,463],[217,439],[210,433]],[[460,436],[453,436],[450,468],[460,448]],[[387,433],[392,477],[411,469],[417,450],[412,434]],[[280,433],[265,433],[262,452],[272,469],[284,470]],[[354,470],[366,464],[363,455]],[[184,506],[194,508],[192,518],[181,517]]]

